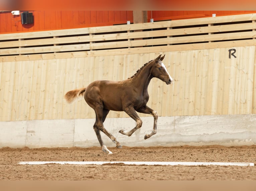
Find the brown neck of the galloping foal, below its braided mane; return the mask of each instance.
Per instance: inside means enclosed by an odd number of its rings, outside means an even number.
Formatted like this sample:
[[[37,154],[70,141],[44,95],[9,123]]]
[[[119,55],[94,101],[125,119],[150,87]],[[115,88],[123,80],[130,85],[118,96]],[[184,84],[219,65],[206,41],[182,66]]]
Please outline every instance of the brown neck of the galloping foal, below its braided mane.
[[[151,76],[151,68],[152,64],[148,63],[145,67],[141,69],[134,77],[133,83],[134,87],[142,90],[143,92],[147,90],[150,80],[152,79]]]

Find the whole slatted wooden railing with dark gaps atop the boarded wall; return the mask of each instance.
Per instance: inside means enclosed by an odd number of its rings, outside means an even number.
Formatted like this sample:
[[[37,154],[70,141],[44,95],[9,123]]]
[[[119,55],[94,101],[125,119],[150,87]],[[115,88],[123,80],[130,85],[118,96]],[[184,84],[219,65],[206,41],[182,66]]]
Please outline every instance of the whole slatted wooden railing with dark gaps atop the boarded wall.
[[[256,44],[256,14],[0,35],[0,61],[124,55]]]

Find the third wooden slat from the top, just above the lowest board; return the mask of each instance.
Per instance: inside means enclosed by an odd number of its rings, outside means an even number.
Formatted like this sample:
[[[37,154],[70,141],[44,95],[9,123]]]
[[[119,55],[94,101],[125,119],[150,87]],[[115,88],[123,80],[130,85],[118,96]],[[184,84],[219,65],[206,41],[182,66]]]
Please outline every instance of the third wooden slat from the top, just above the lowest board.
[[[196,43],[196,42],[205,42],[205,41],[247,39],[247,38],[255,38],[255,37],[256,37],[256,31],[252,31],[252,32],[198,35],[198,36],[193,36],[193,38],[191,38],[191,36],[185,36],[185,37],[174,37],[174,38],[117,41],[117,42],[77,44],[77,45],[66,45],[66,46],[61,45],[61,46],[47,46],[47,47],[2,49],[0,52],[0,55],[67,52],[67,51],[81,51],[81,50],[90,50],[90,49],[91,50],[113,49],[113,47],[126,48],[126,47],[165,45],[165,44]]]

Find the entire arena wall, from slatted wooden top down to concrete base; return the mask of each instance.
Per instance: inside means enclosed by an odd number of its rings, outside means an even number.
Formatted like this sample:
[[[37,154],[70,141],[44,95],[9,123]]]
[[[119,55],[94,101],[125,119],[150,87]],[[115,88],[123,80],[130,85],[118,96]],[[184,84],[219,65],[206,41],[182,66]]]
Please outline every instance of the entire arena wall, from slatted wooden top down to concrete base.
[[[0,35],[0,148],[99,146],[95,113],[66,92],[125,80],[164,55],[174,83],[152,79],[142,127],[110,111],[104,125],[125,146],[256,142],[256,14]],[[112,33],[109,31],[113,31]],[[109,146],[115,146],[103,133]]]

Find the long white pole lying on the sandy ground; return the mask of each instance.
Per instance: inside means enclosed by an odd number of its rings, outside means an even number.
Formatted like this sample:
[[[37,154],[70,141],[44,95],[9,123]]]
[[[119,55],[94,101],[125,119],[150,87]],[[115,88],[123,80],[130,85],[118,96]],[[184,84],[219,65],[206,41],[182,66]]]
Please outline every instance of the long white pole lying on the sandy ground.
[[[78,165],[103,165],[103,164],[126,164],[126,165],[224,165],[224,166],[254,166],[250,162],[130,162],[130,161],[22,161],[18,164],[42,165],[42,164],[78,164]]]

